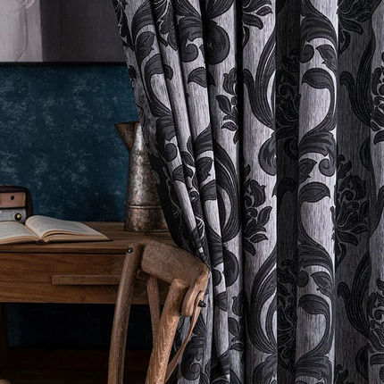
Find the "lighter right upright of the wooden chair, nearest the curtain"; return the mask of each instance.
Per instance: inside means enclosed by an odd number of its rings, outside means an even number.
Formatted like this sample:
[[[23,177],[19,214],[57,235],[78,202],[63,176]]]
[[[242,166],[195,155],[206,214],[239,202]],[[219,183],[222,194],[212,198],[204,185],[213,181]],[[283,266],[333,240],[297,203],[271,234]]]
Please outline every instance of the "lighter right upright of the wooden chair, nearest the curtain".
[[[188,285],[182,280],[173,280],[163,307],[162,317],[156,332],[146,384],[163,384],[171,355],[171,347],[179,324],[181,305]]]

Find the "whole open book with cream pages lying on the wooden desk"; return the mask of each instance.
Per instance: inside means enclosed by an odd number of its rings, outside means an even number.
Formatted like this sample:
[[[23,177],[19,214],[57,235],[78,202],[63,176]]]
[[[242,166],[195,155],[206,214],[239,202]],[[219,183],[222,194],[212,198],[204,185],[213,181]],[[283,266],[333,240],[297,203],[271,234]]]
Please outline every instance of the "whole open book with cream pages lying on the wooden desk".
[[[13,243],[49,243],[67,241],[109,240],[102,233],[77,221],[66,221],[46,216],[31,216],[24,224],[16,221],[0,222],[0,245]]]

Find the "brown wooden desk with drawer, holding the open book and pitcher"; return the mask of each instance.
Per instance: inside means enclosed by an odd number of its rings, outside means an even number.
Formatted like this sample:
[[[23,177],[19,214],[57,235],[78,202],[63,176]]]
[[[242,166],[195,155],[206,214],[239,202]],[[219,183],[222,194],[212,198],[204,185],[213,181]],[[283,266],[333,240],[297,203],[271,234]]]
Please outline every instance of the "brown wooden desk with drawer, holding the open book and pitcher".
[[[20,371],[21,368],[25,368],[21,367],[22,362],[26,363],[26,369],[30,369],[31,361],[35,361],[36,366],[41,360],[38,359],[36,350],[26,351],[18,348],[13,350],[7,347],[4,303],[113,304],[125,251],[132,246],[132,243],[152,239],[173,245],[168,232],[126,232],[122,229],[123,224],[118,222],[87,222],[87,224],[104,233],[112,241],[0,246],[0,303],[3,303],[0,313],[0,368],[2,370],[11,368],[13,371]],[[164,299],[168,287],[166,284],[160,284],[159,288],[161,299]],[[146,286],[139,274],[133,304],[147,304]],[[40,353],[44,352],[40,351]],[[55,353],[57,358],[63,358],[63,351]],[[52,354],[54,353],[51,351],[49,356],[54,365]],[[73,360],[77,362],[81,360],[79,355],[86,354],[87,352],[71,351]],[[104,357],[101,355],[95,357],[95,353],[90,354],[93,354],[96,364],[102,364],[106,368],[107,362],[104,361]],[[137,355],[128,354],[127,358],[133,359],[138,365],[143,365],[138,363]],[[47,370],[49,369],[48,367]],[[17,384],[19,381],[13,380],[13,382]]]

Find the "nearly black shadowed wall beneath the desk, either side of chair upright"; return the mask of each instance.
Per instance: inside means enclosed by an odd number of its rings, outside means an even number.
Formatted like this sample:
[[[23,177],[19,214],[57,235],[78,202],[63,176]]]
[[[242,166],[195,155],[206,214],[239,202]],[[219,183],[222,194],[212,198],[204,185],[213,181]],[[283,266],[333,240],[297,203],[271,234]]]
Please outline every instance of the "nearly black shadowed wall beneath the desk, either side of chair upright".
[[[24,304],[9,313],[10,346],[29,348],[108,349],[114,305]],[[38,320],[38,321],[37,321]],[[133,305],[129,315],[127,349],[151,349],[148,305]]]

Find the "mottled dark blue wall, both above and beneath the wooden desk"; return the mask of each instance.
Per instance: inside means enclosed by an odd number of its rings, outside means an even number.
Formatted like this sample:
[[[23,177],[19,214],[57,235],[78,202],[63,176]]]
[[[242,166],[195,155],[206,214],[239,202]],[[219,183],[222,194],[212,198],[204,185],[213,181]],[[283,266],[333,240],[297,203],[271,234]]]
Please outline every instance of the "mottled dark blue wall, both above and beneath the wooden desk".
[[[36,214],[122,221],[128,153],[113,124],[136,119],[125,66],[0,66],[0,183],[28,187]],[[148,345],[147,309],[135,313]],[[112,317],[111,305],[9,305],[9,343],[107,346]]]

